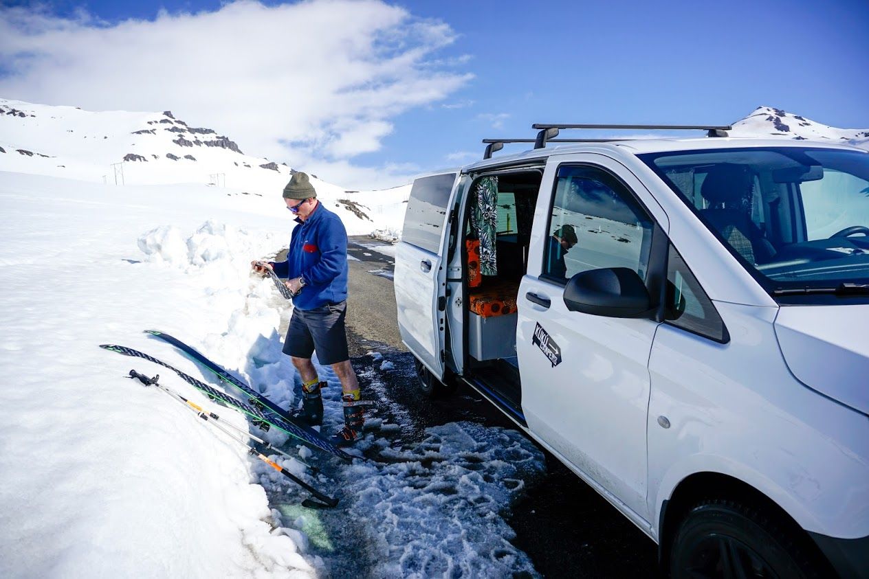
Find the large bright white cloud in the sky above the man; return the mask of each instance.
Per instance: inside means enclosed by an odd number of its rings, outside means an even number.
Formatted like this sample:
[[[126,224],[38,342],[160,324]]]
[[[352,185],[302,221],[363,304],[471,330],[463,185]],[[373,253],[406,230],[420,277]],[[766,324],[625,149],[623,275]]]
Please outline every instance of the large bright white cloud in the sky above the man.
[[[381,148],[390,119],[468,82],[435,57],[453,41],[446,23],[379,0],[242,0],[111,25],[81,11],[60,18],[0,8],[0,95],[90,110],[171,109],[245,152],[344,168],[329,177],[348,182],[389,173],[349,160]]]

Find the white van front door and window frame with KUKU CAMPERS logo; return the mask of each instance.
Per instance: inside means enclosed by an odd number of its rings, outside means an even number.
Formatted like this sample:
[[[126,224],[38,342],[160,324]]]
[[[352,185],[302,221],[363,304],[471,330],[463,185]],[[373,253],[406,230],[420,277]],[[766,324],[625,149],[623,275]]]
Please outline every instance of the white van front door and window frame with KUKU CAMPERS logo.
[[[614,174],[661,229],[668,227],[667,214],[620,162],[597,154],[549,158],[534,213],[528,274],[517,299],[522,411],[531,431],[647,520],[647,364],[658,323],[568,311],[564,286],[540,277],[543,248],[552,233],[549,214],[556,174],[559,167],[572,164]],[[550,306],[535,303],[529,294],[549,299]],[[561,359],[547,358],[541,340]]]

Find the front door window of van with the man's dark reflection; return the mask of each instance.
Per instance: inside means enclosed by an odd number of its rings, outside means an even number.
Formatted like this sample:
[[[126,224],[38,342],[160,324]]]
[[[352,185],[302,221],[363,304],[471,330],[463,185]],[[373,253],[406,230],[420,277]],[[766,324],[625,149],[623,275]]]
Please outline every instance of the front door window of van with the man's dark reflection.
[[[645,279],[653,220],[614,175],[561,167],[543,256],[543,275],[567,283],[576,273],[628,267]]]

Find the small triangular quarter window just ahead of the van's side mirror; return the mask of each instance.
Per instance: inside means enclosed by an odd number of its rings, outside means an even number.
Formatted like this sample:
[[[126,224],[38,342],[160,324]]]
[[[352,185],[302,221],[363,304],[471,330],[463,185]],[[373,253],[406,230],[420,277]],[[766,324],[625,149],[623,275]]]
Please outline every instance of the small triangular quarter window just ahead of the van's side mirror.
[[[729,341],[724,321],[715,310],[712,300],[700,287],[700,282],[688,269],[685,260],[672,243],[667,256],[664,320],[671,326],[700,334],[716,342]]]

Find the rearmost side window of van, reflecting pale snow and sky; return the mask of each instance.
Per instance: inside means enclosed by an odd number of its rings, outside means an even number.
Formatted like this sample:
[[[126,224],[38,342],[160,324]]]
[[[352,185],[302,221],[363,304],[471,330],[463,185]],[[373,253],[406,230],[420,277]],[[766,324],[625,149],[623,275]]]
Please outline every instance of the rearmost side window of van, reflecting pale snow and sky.
[[[436,174],[414,181],[401,240],[431,253],[441,250],[441,234],[447,222],[449,195],[455,174]]]

